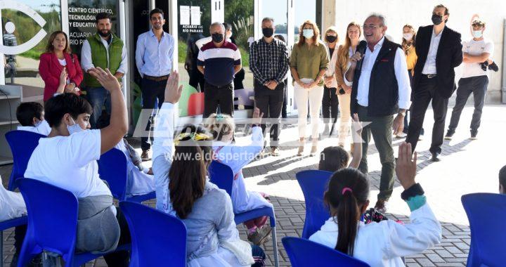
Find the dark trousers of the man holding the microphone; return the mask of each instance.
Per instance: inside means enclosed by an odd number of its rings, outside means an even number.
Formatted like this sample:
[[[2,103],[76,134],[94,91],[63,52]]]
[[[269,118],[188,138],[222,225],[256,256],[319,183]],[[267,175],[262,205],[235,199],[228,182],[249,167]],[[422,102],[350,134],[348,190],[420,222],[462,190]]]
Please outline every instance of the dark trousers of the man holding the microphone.
[[[367,115],[366,107],[358,106],[358,117],[361,122],[370,122],[362,130],[362,159],[358,169],[363,174],[368,174],[367,153],[371,136],[375,141],[376,148],[380,153],[380,161],[382,164],[380,193],[377,195],[378,200],[388,201],[394,191],[394,149],[392,148],[392,124],[394,124],[394,116],[370,117]]]

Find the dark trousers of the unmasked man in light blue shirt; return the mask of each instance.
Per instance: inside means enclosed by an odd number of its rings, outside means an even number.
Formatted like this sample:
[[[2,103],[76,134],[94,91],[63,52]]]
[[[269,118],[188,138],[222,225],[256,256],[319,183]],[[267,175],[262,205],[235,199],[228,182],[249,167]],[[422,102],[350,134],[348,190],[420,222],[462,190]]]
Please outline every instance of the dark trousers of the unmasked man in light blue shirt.
[[[141,91],[142,91],[142,99],[143,99],[143,109],[154,110],[156,100],[158,100],[158,108],[162,107],[165,99],[165,86],[167,85],[167,79],[164,79],[160,82],[153,81],[151,79],[143,78],[141,81]],[[150,118],[148,119],[148,124],[146,124],[145,131],[148,132],[146,135],[143,133],[141,136],[141,148],[143,151],[149,150],[151,148],[151,143],[148,142],[148,138],[153,142],[153,136],[151,136],[151,124],[153,124],[153,119],[155,114],[151,112]]]

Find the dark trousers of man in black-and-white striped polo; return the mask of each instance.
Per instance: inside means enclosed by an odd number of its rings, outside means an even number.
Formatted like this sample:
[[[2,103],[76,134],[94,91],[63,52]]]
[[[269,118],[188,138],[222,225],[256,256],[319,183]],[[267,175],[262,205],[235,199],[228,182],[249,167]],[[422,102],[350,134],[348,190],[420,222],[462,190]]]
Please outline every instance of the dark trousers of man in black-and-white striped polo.
[[[209,115],[216,113],[218,105],[222,114],[228,114],[233,117],[233,84],[223,86],[214,86],[204,84],[204,115],[207,118]]]

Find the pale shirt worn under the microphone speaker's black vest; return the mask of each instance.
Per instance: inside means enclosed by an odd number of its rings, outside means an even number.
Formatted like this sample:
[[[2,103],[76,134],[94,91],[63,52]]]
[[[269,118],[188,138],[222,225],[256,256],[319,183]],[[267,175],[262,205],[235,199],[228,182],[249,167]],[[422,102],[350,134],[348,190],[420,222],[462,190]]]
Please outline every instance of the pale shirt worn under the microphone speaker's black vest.
[[[363,107],[369,106],[369,82],[372,67],[374,67],[378,53],[383,46],[384,37],[375,45],[374,51],[370,51],[369,47],[365,49],[363,57],[361,77],[358,79],[358,93],[356,99],[358,105]],[[397,48],[396,56],[394,59],[394,69],[398,85],[398,107],[407,110],[411,105],[411,84],[408,75],[408,65],[406,64],[406,56],[401,48]],[[344,72],[344,83],[352,86],[353,82],[346,79],[346,72]]]

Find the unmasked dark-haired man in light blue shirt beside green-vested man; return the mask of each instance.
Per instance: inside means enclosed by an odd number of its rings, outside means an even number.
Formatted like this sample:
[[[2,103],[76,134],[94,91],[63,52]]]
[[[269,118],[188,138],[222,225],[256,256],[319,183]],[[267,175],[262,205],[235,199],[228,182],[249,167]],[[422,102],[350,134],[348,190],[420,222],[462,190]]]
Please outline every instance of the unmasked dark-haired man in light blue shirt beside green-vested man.
[[[158,100],[158,108],[164,103],[165,85],[173,68],[174,38],[163,30],[165,19],[164,12],[160,8],[155,8],[150,12],[150,24],[152,29],[139,35],[137,39],[136,63],[142,77],[143,108],[154,110],[156,100]],[[151,144],[148,142],[148,137],[151,135],[153,118],[152,113],[146,126],[148,135],[143,134],[141,137],[143,160],[150,159]],[[153,136],[151,136],[151,141],[153,142]]]

